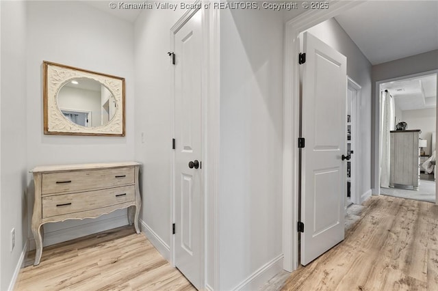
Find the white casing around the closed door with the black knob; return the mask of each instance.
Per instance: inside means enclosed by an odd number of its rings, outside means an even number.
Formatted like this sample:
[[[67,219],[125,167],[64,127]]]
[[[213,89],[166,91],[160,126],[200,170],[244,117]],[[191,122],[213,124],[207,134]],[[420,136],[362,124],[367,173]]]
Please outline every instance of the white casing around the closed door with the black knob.
[[[201,29],[203,42],[202,84],[201,84],[201,285],[206,290],[218,290],[219,271],[219,212],[218,212],[218,164],[220,137],[220,11],[208,9],[196,0],[192,9],[187,10],[170,28],[170,52],[175,52],[175,33],[201,10]],[[170,63],[171,64],[171,63]],[[172,137],[175,137],[175,69],[170,76],[170,92],[173,100]],[[175,150],[172,151],[171,193],[170,193],[170,223],[175,223]],[[208,230],[213,230],[214,238],[208,237]],[[175,266],[175,235],[169,225],[170,234],[170,264]],[[209,240],[211,239],[211,243]],[[211,249],[212,257],[207,251]],[[210,260],[209,260],[210,259]],[[208,272],[214,273],[212,281],[208,281]]]

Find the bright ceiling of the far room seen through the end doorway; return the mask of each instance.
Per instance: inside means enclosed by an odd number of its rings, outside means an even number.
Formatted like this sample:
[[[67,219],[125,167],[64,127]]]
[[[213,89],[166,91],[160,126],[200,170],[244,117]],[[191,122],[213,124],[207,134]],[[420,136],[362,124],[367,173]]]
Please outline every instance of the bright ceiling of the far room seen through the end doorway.
[[[384,83],[381,89],[389,91],[402,111],[437,106],[437,74]]]

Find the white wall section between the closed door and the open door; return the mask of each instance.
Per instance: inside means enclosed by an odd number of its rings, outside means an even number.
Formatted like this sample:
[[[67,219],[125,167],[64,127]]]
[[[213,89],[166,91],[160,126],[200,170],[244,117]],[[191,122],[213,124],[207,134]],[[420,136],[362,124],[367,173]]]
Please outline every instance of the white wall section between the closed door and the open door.
[[[281,15],[220,12],[220,290],[283,253]]]

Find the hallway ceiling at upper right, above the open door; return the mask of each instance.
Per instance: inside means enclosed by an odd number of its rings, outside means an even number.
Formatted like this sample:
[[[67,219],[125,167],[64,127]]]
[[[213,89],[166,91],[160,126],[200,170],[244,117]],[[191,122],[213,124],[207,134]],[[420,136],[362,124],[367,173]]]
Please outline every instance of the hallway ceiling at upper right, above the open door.
[[[367,1],[335,19],[373,65],[438,48],[438,1]]]

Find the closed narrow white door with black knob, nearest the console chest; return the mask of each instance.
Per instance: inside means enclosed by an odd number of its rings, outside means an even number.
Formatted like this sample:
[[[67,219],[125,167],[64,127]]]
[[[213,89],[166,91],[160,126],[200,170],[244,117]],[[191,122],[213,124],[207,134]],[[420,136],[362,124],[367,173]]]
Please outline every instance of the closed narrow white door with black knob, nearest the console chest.
[[[202,29],[199,10],[175,33],[175,266],[201,286]]]

